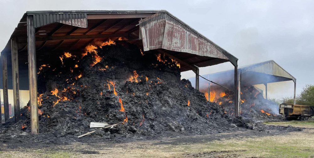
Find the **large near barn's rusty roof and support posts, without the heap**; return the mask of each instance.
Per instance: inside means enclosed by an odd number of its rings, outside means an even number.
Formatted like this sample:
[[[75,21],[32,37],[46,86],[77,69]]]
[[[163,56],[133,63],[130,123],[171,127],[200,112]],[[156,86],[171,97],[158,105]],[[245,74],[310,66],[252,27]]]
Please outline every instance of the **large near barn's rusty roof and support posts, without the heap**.
[[[181,72],[196,73],[196,89],[198,67],[230,61],[237,70],[236,57],[165,10],[28,11],[1,52],[5,120],[8,119],[8,89],[14,91],[16,121],[19,89],[29,89],[31,133],[38,134],[36,67],[62,51],[82,50],[99,40],[118,38],[138,45],[147,53],[161,53],[176,59],[181,64]],[[12,74],[8,73],[11,70]],[[234,73],[237,76],[237,71]],[[236,80],[234,83],[236,90]]]

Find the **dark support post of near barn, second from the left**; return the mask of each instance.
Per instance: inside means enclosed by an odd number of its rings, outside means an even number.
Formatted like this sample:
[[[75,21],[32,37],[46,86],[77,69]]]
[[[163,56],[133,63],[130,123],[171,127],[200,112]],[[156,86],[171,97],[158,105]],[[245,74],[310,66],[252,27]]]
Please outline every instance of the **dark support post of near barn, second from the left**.
[[[18,44],[16,38],[11,40],[12,50],[12,83],[13,83],[13,101],[14,101],[14,120],[20,119],[20,97],[19,97],[19,59]]]

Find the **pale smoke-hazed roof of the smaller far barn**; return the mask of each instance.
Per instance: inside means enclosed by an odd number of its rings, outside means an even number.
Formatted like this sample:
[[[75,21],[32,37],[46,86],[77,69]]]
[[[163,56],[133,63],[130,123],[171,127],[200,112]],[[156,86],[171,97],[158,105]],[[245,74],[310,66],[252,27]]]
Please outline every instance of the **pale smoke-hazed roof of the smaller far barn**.
[[[281,66],[279,66],[275,61],[264,61],[257,64],[252,64],[248,66],[242,66],[238,68],[238,73],[241,73],[241,85],[251,86],[257,84],[266,84],[273,82],[282,81],[293,81],[296,82],[295,77],[290,75]],[[234,81],[234,71],[223,71],[213,74],[202,75],[203,77],[222,84],[227,87],[232,87]],[[194,77],[195,78],[195,77]],[[194,82],[194,78],[189,78],[191,82]],[[192,83],[193,85],[193,83]],[[208,82],[200,78],[200,89],[202,87],[208,87]]]

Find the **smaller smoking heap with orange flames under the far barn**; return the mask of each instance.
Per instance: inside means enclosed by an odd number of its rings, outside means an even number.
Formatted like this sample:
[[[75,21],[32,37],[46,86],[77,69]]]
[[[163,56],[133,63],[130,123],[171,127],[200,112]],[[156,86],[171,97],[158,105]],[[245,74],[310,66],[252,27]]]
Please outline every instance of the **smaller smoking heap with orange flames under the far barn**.
[[[213,89],[213,92],[210,92],[210,101],[222,105],[225,110],[224,113],[233,116],[234,93],[228,90],[223,90],[223,88],[219,86],[211,86],[211,89]],[[207,94],[205,93],[205,97],[207,97]],[[255,121],[282,120],[282,116],[278,114],[279,105],[273,101],[265,99],[263,93],[258,91],[254,86],[241,87],[240,113],[243,118]]]

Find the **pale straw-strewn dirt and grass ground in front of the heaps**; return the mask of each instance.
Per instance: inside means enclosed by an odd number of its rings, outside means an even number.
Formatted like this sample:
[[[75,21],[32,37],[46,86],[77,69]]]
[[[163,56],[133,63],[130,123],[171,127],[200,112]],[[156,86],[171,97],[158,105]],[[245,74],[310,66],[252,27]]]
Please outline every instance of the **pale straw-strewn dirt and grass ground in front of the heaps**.
[[[243,130],[233,133],[179,136],[125,143],[72,143],[70,145],[10,145],[3,143],[0,157],[313,157],[314,122],[266,122],[306,128],[298,132]]]

